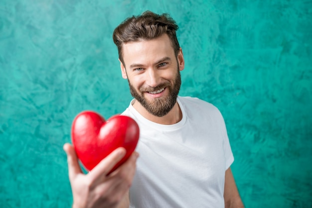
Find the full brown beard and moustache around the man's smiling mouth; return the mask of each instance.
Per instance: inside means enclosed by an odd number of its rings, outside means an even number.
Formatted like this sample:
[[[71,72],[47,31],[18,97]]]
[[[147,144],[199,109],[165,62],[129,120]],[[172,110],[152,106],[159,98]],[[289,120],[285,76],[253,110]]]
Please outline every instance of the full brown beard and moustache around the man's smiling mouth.
[[[166,115],[176,103],[177,95],[181,86],[181,75],[179,67],[177,68],[177,74],[175,76],[173,85],[169,81],[162,83],[155,88],[143,88],[139,89],[139,92],[131,85],[130,81],[130,93],[132,97],[134,97],[148,112],[151,114],[162,117]],[[153,99],[152,102],[148,101],[144,97],[145,92],[154,92],[160,90],[162,88],[167,88],[169,90],[169,94],[166,97],[160,97]]]

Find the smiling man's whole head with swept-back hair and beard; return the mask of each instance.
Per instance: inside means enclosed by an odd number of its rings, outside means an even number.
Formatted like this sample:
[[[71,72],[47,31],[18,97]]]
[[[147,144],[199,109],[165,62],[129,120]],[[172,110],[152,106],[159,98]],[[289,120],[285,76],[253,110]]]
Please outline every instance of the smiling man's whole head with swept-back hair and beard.
[[[145,12],[114,31],[114,42],[131,95],[149,113],[162,117],[176,104],[184,69],[177,25],[167,14]]]

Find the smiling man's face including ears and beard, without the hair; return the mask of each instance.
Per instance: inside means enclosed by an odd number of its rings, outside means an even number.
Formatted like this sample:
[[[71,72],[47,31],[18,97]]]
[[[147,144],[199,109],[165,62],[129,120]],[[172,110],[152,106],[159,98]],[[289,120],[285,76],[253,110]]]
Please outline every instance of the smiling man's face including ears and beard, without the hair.
[[[124,44],[123,58],[122,75],[128,79],[131,95],[151,114],[166,115],[176,103],[181,86],[182,51],[175,57],[170,39],[162,35]]]

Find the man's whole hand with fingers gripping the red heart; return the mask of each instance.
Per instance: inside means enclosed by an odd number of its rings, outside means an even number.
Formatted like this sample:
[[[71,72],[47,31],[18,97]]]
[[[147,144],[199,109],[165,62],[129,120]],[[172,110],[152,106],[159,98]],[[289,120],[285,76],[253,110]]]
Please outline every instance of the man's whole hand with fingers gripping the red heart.
[[[139,156],[137,152],[134,152],[114,172],[107,175],[126,154],[125,148],[117,148],[85,175],[79,166],[74,147],[66,143],[63,149],[67,154],[68,175],[74,200],[73,208],[116,208],[124,200],[129,201],[128,192]]]

